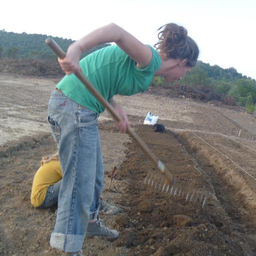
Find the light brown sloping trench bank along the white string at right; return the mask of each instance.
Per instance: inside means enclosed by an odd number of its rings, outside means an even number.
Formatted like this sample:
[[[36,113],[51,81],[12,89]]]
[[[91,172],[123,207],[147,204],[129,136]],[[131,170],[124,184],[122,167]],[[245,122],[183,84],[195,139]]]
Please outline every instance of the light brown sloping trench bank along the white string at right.
[[[182,141],[192,157],[211,177],[216,198],[229,216],[245,226],[255,227],[256,194],[254,180],[247,173],[242,172],[242,169],[237,167],[234,162],[231,162],[230,158],[227,159],[207,144],[198,143],[198,138],[191,136],[189,132],[177,135],[176,138]],[[249,152],[245,153],[248,156]],[[245,156],[244,158],[246,159]],[[239,161],[239,159],[236,160]]]

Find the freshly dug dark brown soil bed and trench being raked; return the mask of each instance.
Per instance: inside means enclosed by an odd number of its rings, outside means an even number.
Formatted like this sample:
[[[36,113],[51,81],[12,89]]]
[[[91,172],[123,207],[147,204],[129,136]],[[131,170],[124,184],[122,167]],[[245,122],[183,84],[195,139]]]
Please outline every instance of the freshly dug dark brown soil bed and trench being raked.
[[[180,187],[206,191],[208,199],[202,208],[144,184],[147,171],[158,170],[131,143],[119,172],[127,179],[127,213],[116,220],[115,244],[129,247],[129,255],[256,255],[255,190],[243,173],[191,132],[141,125],[138,134]]]

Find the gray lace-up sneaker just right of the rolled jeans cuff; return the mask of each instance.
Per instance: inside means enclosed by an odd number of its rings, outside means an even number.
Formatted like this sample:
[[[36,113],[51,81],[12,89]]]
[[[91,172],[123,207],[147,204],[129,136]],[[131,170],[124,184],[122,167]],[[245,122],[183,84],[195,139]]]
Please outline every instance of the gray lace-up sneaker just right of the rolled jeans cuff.
[[[118,237],[118,232],[114,229],[110,230],[109,228],[104,226],[102,219],[98,218],[97,221],[88,223],[85,237],[93,237],[95,235],[102,235],[107,237],[108,239],[115,239]]]

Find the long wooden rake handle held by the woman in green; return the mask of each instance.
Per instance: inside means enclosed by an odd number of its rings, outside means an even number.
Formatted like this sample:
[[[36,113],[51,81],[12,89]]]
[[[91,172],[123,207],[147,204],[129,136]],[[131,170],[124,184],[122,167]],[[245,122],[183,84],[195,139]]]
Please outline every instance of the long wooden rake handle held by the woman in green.
[[[46,38],[45,39],[46,44],[58,55],[59,58],[64,58],[65,57],[65,52],[59,47],[59,45],[52,39],[52,38]],[[114,119],[117,121],[121,121],[122,118],[116,112],[114,107],[105,100],[105,98],[95,89],[95,87],[88,81],[88,79],[78,70],[74,73],[80,80],[81,82],[87,87],[87,89],[91,92],[91,94],[97,98],[102,105],[111,113]],[[137,143],[140,145],[140,147],[143,149],[143,151],[148,155],[148,157],[157,165],[158,169],[165,175],[167,180],[169,182],[172,182],[172,176],[171,174],[167,171],[164,170],[164,164],[156,158],[155,154],[149,149],[149,147],[144,143],[144,141],[135,133],[133,130],[128,127],[127,128],[127,133],[130,134],[131,137],[133,137]]]

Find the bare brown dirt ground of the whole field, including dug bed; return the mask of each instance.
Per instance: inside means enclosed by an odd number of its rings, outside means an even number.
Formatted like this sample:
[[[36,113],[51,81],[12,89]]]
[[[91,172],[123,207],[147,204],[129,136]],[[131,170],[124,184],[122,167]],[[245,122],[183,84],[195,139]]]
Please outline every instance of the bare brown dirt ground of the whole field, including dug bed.
[[[49,246],[56,208],[38,210],[29,200],[41,156],[56,150],[46,117],[57,81],[0,73],[0,255],[60,255]],[[176,187],[203,191],[206,203],[144,184],[158,170],[104,112],[102,195],[119,212],[101,217],[119,237],[85,239],[84,255],[256,255],[256,119],[243,108],[149,92],[115,99]],[[163,133],[142,124],[148,111],[159,115]],[[107,173],[120,162],[108,191]]]

